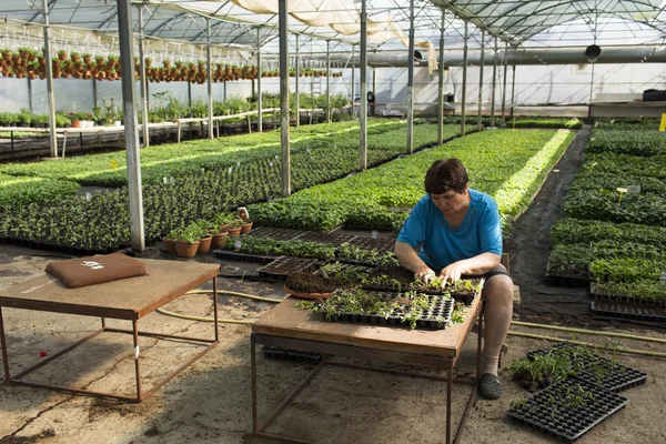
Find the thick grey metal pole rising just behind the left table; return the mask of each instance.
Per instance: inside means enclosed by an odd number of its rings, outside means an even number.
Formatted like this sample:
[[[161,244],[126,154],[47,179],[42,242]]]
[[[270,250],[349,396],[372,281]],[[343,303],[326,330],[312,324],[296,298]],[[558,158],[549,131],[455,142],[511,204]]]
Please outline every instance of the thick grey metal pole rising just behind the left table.
[[[118,33],[120,37],[120,65],[134,65],[134,48],[132,39],[131,0],[118,0]],[[130,196],[130,232],[132,249],[144,251],[143,238],[143,196],[141,192],[141,161],[139,150],[139,132],[137,131],[137,113],[134,108],[134,78],[123,75],[122,104],[124,111],[125,157],[128,162],[128,191]]]

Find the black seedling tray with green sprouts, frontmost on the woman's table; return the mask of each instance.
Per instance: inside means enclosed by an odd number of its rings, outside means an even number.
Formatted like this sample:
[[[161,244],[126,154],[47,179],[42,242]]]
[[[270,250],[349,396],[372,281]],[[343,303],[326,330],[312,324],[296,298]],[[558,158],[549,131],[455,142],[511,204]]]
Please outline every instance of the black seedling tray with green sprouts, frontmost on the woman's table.
[[[326,321],[444,330],[452,319],[451,297],[407,293],[337,290],[329,299],[299,302],[295,306],[321,314]]]

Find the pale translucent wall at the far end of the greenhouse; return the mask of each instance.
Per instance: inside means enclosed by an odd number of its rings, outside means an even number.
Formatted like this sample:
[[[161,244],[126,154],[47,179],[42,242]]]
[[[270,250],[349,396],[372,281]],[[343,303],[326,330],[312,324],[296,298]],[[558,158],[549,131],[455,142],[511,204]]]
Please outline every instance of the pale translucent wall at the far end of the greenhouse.
[[[336,69],[337,71],[337,69]],[[355,94],[359,95],[360,80],[359,69],[355,73]],[[390,103],[390,108],[401,110],[406,103],[406,68],[379,68],[376,69],[376,102]],[[497,107],[500,107],[503,88],[503,69],[498,70],[497,81]],[[351,70],[342,70],[342,78],[331,79],[331,92],[333,94],[351,94]],[[456,101],[461,98],[462,68],[450,70],[451,79],[447,81],[447,93],[453,92]],[[516,67],[516,93],[517,104],[573,104],[586,103],[591,99],[592,65],[518,65]],[[507,70],[507,103],[511,101],[511,67]],[[470,67],[467,70],[468,103],[476,103],[478,97],[478,68]],[[663,88],[666,79],[666,65],[664,63],[645,64],[598,64],[595,67],[594,89],[592,99],[598,93],[640,93],[648,88]],[[294,90],[294,80],[290,79],[291,90]],[[279,92],[279,78],[262,79],[264,92]],[[372,90],[372,69],[369,70],[369,90]],[[427,69],[415,70],[415,111],[435,115],[435,103],[437,98],[437,74],[427,73]],[[491,102],[492,69],[484,70],[483,101]],[[120,81],[98,81],[98,100],[101,104],[102,98],[114,98],[117,103],[121,100]],[[301,78],[301,92],[325,93],[325,78]],[[172,94],[182,100],[188,100],[188,84],[185,82],[160,82],[150,83],[149,92],[171,91]],[[54,80],[54,93],[57,109],[65,111],[90,111],[94,107],[92,80],[57,79]],[[226,83],[226,97],[248,98],[252,93],[250,81],[235,81]],[[223,83],[213,84],[213,95],[216,100],[224,97]],[[47,112],[46,82],[32,81],[32,105],[36,113]],[[205,99],[206,85],[192,84],[192,100]],[[0,112],[17,112],[21,108],[30,108],[28,80],[0,78]],[[383,109],[379,107],[377,110]],[[473,107],[473,110],[475,107]],[[472,113],[473,111],[471,111]]]

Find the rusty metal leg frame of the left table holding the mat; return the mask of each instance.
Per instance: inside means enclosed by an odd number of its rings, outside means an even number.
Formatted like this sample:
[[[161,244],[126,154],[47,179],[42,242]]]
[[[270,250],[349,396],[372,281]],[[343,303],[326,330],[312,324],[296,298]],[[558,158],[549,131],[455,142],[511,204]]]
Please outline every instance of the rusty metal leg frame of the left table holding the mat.
[[[80,341],[75,342],[74,344],[72,344],[63,350],[60,350],[59,352],[40,361],[38,364],[22,371],[21,373],[19,373],[16,376],[11,376],[10,372],[9,372],[9,356],[8,356],[8,351],[7,351],[7,339],[6,339],[6,334],[4,334],[4,323],[2,320],[2,306],[0,306],[0,344],[2,346],[2,362],[4,364],[4,382],[7,384],[27,385],[30,387],[38,387],[38,389],[50,389],[50,390],[71,393],[71,394],[75,394],[75,395],[87,395],[87,396],[111,398],[111,400],[118,400],[118,401],[124,401],[124,402],[140,403],[141,401],[143,401],[147,397],[149,397],[150,395],[152,395],[158,389],[162,387],[164,384],[167,384],[168,382],[173,380],[179,373],[181,373],[183,370],[185,370],[192,363],[194,363],[200,357],[205,355],[208,352],[211,351],[212,347],[214,347],[215,345],[218,345],[220,343],[220,332],[219,332],[219,325],[218,325],[218,285],[216,285],[218,282],[216,282],[216,278],[213,278],[212,280],[213,280],[213,312],[214,312],[214,319],[215,319],[215,322],[213,323],[214,339],[212,339],[212,340],[200,339],[200,337],[188,337],[188,336],[173,335],[173,334],[140,332],[138,319],[131,320],[132,321],[132,330],[112,329],[112,327],[107,326],[105,320],[107,319],[122,320],[122,317],[114,317],[111,315],[111,316],[101,317],[101,321],[102,321],[101,329],[92,332],[91,334],[81,339]],[[154,307],[154,310],[157,310],[157,309],[159,309],[159,306]],[[30,310],[30,309],[17,309],[17,310]],[[54,312],[54,311],[50,311],[50,312]],[[60,311],[60,312],[67,313],[67,311]],[[69,314],[77,314],[77,313],[69,313]],[[75,349],[77,346],[83,344],[84,342],[91,340],[92,337],[94,337],[98,334],[103,333],[103,332],[125,333],[125,334],[131,334],[133,336],[133,340],[134,340],[134,349],[133,349],[134,350],[133,351],[134,375],[135,375],[135,383],[137,383],[137,395],[135,396],[123,396],[123,395],[117,395],[117,394],[112,394],[112,393],[95,392],[95,391],[91,391],[91,390],[71,389],[71,387],[65,387],[65,386],[60,386],[60,385],[51,385],[51,384],[42,384],[42,383],[21,381],[21,379],[23,376],[40,369],[41,366],[48,364],[49,362],[62,356],[63,354],[70,352],[71,350]],[[171,372],[169,375],[163,377],[161,381],[159,381],[148,392],[143,392],[142,387],[141,387],[141,364],[140,364],[141,353],[140,353],[140,346],[139,346],[139,336],[188,341],[188,342],[192,342],[192,343],[201,343],[201,344],[209,344],[209,345],[205,349],[203,349],[201,352],[195,354],[193,357],[188,360],[185,363],[180,365],[176,370]]]

